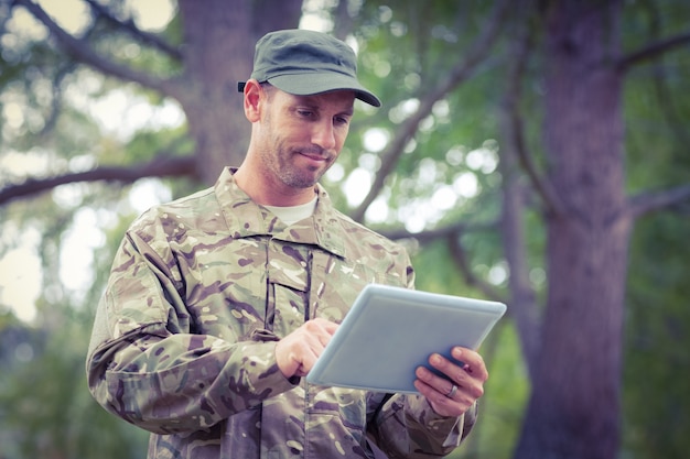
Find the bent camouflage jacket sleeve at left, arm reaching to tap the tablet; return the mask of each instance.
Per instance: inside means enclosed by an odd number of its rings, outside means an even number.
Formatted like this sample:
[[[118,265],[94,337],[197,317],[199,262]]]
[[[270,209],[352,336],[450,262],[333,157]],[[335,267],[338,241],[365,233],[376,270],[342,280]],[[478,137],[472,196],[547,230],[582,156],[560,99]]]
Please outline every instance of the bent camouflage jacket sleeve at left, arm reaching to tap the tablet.
[[[98,307],[86,372],[98,403],[157,434],[197,430],[294,387],[274,342],[190,332],[190,317],[166,263],[128,232]]]

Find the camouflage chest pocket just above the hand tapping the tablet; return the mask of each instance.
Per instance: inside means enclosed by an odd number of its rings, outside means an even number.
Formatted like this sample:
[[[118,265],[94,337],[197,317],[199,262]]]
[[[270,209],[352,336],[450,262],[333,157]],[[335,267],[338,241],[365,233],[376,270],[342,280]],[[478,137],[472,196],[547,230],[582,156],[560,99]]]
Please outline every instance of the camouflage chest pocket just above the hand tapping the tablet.
[[[265,326],[282,338],[309,317],[311,248],[284,241],[268,243]]]

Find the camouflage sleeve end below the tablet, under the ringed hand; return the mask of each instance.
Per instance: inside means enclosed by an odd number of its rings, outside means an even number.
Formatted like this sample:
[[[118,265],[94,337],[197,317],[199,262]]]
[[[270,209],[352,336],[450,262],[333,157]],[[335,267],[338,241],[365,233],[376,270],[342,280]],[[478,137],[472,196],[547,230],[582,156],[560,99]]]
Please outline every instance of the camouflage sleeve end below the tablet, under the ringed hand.
[[[380,407],[371,436],[390,458],[423,459],[446,456],[474,426],[477,404],[463,416],[438,415],[421,395],[397,394]]]

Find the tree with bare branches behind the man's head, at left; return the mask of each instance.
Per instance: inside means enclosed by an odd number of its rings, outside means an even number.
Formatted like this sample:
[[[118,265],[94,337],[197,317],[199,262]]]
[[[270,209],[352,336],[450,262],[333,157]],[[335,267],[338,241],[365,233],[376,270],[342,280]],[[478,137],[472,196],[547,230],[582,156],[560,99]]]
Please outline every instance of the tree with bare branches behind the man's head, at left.
[[[273,2],[270,8],[266,8],[269,3],[266,1],[239,1],[234,2],[233,8],[227,8],[223,0],[207,1],[205,8],[198,8],[194,1],[182,0],[180,13],[184,20],[181,21],[181,40],[184,48],[138,30],[131,20],[119,19],[123,14],[123,11],[118,11],[123,8],[122,2],[114,2],[112,9],[108,9],[96,1],[87,1],[94,21],[90,30],[80,39],[65,32],[32,0],[15,0],[13,3],[25,8],[45,24],[53,40],[75,62],[104,75],[134,81],[162,97],[179,101],[195,140],[194,156],[175,157],[162,151],[143,167],[94,170],[11,188],[22,195],[42,188],[50,189],[61,183],[85,179],[131,182],[145,176],[190,175],[207,183],[215,181],[219,165],[238,164],[244,154],[247,130],[241,113],[234,109],[238,103],[236,81],[247,78],[251,73],[254,44],[269,30],[295,28],[301,0]],[[115,46],[121,44],[122,40],[137,40],[154,47],[164,58],[179,63],[181,72],[160,76],[144,72],[142,63],[123,65],[118,62],[119,50],[107,45],[107,40],[112,37]],[[99,52],[101,47],[106,47],[111,55]],[[238,147],[228,152],[227,145]],[[6,195],[3,198],[12,197]]]

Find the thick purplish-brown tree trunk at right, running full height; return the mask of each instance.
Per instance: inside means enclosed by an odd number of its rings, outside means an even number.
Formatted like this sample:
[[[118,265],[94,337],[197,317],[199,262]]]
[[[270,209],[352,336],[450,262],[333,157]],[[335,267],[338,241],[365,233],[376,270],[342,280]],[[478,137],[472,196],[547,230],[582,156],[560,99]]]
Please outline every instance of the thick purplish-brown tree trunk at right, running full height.
[[[516,458],[613,459],[627,244],[619,1],[550,2],[546,147],[561,200],[547,216],[549,293]]]

